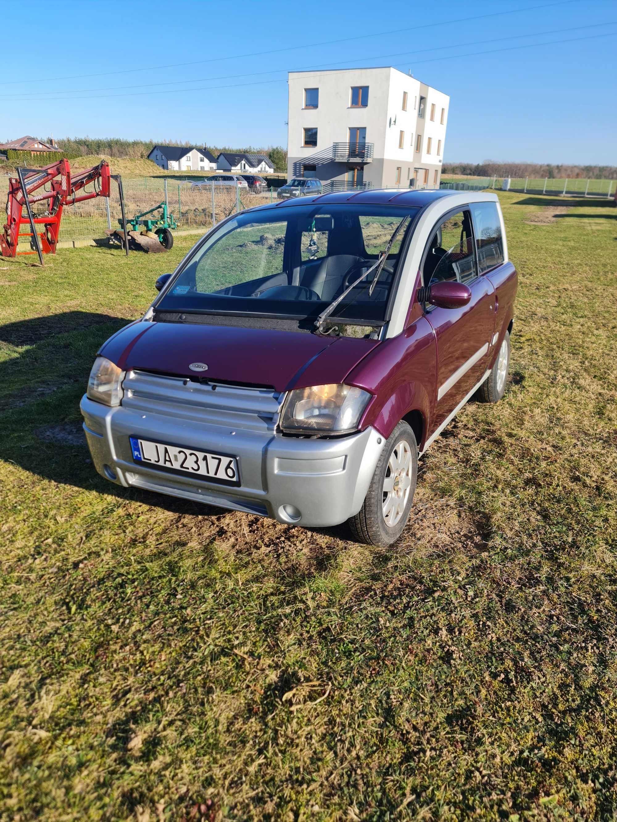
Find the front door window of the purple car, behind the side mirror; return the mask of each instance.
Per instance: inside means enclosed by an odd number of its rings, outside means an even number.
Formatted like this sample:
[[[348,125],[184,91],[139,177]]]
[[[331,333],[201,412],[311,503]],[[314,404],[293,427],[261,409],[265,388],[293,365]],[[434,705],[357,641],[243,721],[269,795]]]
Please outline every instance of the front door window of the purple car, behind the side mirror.
[[[476,279],[471,214],[459,211],[445,219],[429,241],[422,269],[424,285],[443,280],[469,283]]]

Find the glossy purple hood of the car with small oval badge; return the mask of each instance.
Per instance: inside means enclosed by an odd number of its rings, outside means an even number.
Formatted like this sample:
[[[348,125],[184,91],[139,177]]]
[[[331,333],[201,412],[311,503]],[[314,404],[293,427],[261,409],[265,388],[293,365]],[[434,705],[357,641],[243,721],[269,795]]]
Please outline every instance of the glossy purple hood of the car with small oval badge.
[[[202,376],[285,391],[343,382],[378,344],[298,331],[138,321],[110,337],[99,353],[123,371]],[[192,363],[207,369],[191,369]]]

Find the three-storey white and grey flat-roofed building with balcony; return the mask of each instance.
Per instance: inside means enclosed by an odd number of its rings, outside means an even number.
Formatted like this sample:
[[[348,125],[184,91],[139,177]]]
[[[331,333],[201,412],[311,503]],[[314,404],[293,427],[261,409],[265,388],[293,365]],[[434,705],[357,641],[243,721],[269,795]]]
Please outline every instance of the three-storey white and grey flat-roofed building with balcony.
[[[290,72],[288,176],[438,188],[449,103],[392,67]]]

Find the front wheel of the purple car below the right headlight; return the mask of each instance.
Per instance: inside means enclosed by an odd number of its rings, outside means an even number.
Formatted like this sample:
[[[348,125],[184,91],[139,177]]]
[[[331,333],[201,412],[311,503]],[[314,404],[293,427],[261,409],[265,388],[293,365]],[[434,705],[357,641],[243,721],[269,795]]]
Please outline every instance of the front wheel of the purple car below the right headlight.
[[[401,536],[417,476],[418,445],[411,427],[401,421],[387,438],[360,511],[347,520],[356,542],[387,546]]]

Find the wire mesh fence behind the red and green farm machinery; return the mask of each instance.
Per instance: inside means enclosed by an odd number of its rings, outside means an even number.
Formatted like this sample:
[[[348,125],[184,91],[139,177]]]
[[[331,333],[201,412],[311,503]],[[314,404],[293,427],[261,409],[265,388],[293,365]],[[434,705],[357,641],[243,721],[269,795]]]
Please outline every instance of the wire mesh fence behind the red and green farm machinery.
[[[203,183],[203,180],[204,178],[123,178],[126,215],[130,219],[166,201],[169,211],[178,223],[179,231],[200,229],[205,233],[212,225],[235,211],[276,200],[276,188],[269,188],[266,192],[257,194],[233,185],[193,185],[194,182]],[[8,178],[0,177],[2,210],[7,201],[7,194]],[[47,201],[39,203],[34,209],[35,215],[44,214],[46,205]],[[58,241],[62,243],[104,239],[109,229],[119,228],[119,218],[118,186],[112,181],[109,200],[106,197],[95,197],[64,208]],[[30,238],[24,238],[21,243],[29,244]]]

